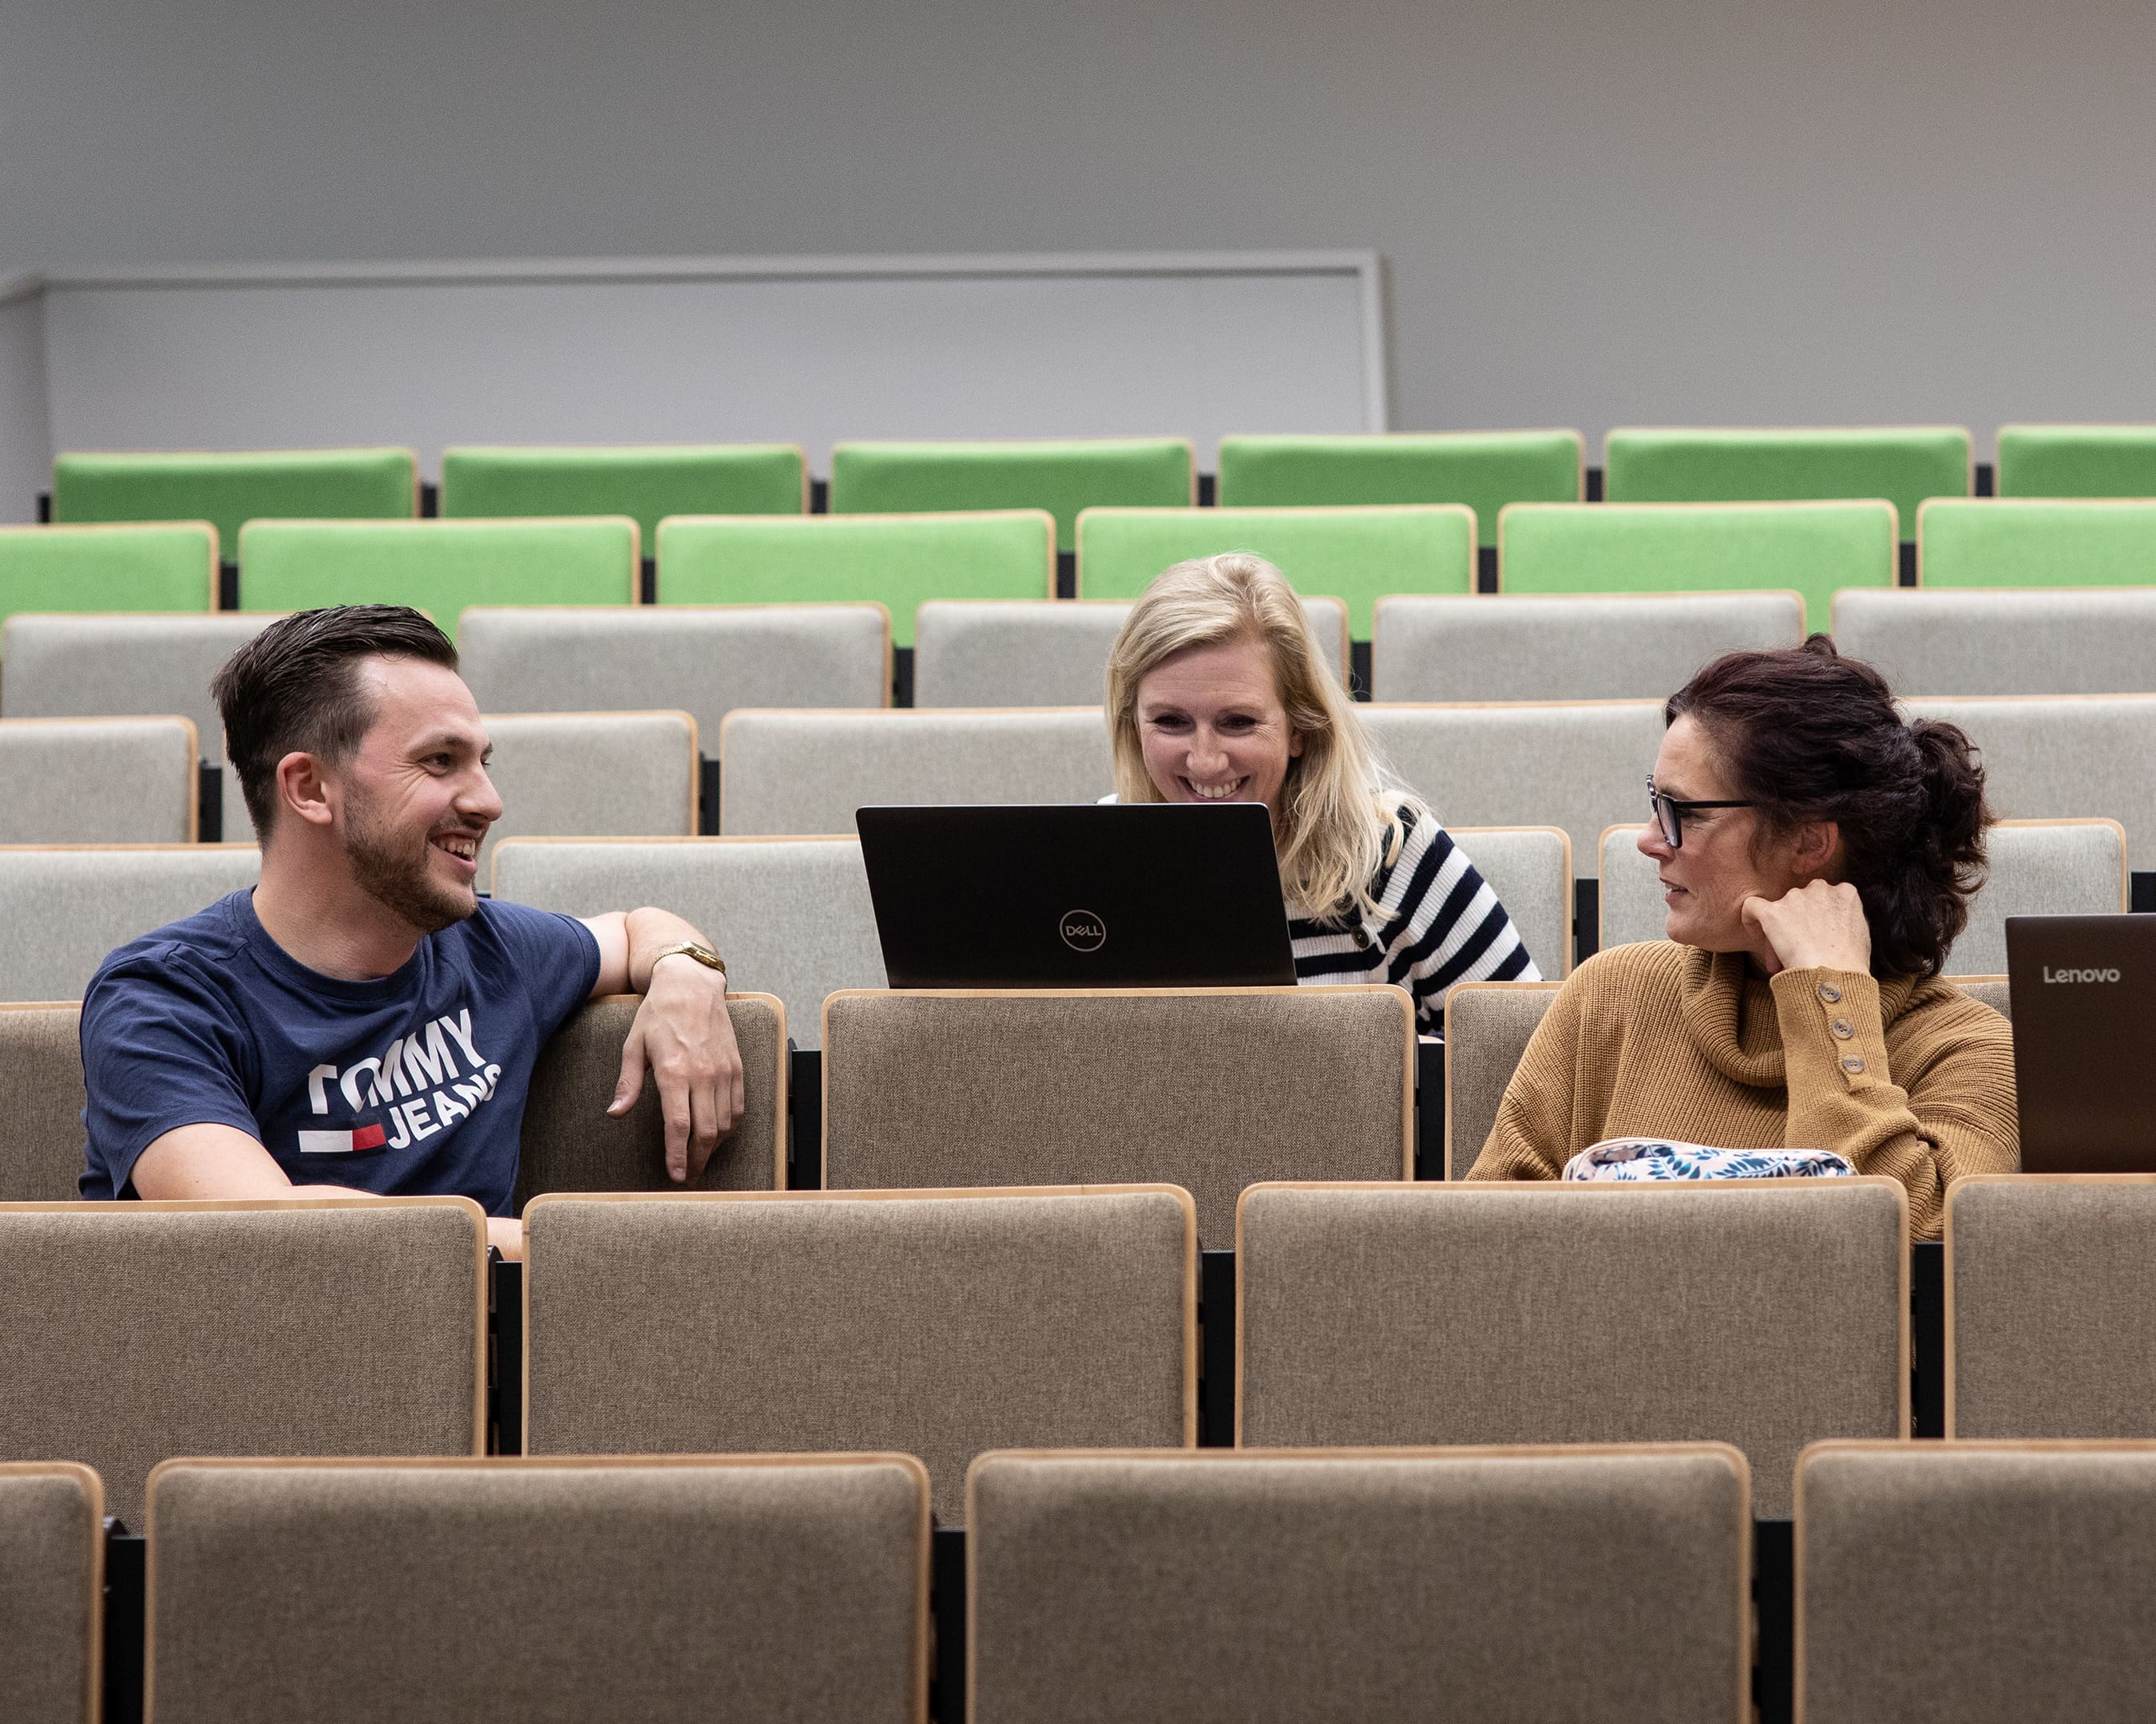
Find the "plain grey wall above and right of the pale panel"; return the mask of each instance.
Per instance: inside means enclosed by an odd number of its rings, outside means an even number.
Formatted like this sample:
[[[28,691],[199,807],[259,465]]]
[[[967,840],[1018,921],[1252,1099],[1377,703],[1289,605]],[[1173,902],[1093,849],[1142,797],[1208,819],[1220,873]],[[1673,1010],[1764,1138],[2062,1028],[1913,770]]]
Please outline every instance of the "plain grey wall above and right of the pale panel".
[[[2156,416],[2152,67],[2130,0],[9,0],[0,276],[1373,246],[1397,429],[1984,448]]]

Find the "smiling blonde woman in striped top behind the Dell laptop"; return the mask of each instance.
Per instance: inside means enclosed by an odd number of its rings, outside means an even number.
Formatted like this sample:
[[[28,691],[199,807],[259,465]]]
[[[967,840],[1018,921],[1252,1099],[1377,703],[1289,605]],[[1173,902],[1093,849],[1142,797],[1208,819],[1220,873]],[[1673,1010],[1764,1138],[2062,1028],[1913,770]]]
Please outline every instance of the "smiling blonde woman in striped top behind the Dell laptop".
[[[1177,562],[1108,653],[1117,802],[1263,802],[1300,983],[1397,983],[1436,1034],[1466,981],[1539,981],[1505,905],[1386,782],[1302,601],[1261,556]]]

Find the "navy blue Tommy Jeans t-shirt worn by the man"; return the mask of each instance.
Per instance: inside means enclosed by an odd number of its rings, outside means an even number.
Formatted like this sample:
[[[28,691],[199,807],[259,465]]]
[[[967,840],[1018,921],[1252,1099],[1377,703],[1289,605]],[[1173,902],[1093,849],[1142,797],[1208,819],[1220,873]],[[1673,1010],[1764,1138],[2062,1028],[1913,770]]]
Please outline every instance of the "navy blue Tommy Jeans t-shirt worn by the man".
[[[392,976],[308,970],[254,894],[112,953],[82,1000],[82,1196],[134,1196],[136,1157],[181,1125],[261,1140],[293,1185],[455,1194],[507,1215],[539,1047],[591,996],[573,916],[481,899]]]

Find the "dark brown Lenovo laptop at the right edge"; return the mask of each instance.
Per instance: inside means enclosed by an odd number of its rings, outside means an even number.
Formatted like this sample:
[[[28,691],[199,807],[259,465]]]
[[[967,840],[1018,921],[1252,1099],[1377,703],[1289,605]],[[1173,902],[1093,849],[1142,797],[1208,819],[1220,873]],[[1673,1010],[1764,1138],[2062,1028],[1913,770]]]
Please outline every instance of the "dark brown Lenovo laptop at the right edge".
[[[2156,1172],[2156,916],[2007,916],[2022,1172]]]

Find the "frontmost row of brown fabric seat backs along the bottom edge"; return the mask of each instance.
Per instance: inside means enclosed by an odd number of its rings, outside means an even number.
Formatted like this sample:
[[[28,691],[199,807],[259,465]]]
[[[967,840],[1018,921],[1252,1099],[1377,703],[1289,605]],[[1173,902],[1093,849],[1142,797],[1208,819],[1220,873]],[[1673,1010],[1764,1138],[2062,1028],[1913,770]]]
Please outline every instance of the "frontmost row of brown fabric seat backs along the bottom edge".
[[[84,1724],[108,1633],[160,1724],[955,1724],[955,1690],[1011,1724],[2156,1707],[2156,1446],[1811,1446],[1779,1612],[1751,1485],[1720,1444],[998,1450],[957,1567],[901,1452],[177,1459],[127,1541],[142,1633],[97,1474],[28,1463],[0,1468],[0,1711]]]

